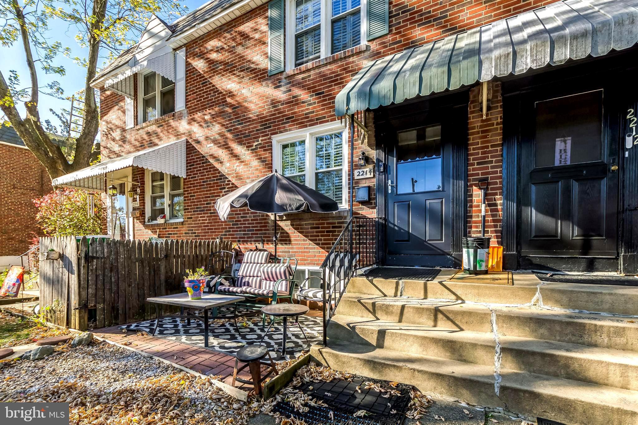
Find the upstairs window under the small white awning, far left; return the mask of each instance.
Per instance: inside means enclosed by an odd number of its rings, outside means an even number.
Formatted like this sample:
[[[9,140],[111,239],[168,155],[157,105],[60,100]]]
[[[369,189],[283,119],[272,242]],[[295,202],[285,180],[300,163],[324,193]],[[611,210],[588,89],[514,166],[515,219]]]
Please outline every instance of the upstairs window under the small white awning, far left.
[[[147,122],[175,111],[175,83],[158,73],[148,72],[139,79],[139,122]]]

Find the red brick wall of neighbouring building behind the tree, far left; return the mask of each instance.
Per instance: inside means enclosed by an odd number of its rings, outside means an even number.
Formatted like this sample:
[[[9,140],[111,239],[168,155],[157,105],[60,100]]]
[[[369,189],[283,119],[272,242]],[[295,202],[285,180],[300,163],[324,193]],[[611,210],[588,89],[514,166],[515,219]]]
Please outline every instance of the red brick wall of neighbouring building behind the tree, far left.
[[[0,256],[18,256],[41,236],[33,199],[53,190],[47,170],[30,150],[0,143]]]

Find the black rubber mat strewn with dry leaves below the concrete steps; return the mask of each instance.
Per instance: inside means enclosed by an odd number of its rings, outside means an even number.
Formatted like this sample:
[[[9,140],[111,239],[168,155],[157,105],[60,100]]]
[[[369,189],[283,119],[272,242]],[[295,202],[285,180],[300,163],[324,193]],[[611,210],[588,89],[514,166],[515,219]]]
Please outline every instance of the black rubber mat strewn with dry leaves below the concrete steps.
[[[397,384],[354,375],[351,381],[335,379],[330,382],[306,382],[300,391],[323,401],[329,407],[309,407],[308,412],[295,410],[290,403],[281,401],[274,409],[286,417],[294,416],[308,425],[347,423],[400,425],[410,403],[412,385]],[[379,391],[385,390],[385,391]],[[390,391],[387,391],[390,390]],[[364,410],[362,416],[355,416]],[[330,415],[332,412],[332,416]]]

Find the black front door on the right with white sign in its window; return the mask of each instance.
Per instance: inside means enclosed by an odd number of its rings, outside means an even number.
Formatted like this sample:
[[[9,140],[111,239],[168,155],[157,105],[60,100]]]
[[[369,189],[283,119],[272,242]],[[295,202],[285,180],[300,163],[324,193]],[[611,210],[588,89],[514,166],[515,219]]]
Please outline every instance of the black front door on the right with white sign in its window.
[[[579,91],[554,87],[521,99],[522,256],[618,255],[611,96]]]

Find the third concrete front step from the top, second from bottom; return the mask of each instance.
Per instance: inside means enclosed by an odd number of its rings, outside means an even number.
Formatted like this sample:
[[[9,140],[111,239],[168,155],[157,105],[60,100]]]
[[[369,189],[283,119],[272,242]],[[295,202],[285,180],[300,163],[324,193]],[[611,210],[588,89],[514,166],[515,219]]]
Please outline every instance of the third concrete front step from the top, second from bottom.
[[[493,333],[336,315],[330,320],[328,335],[331,341],[494,365]],[[635,352],[516,336],[499,336],[499,343],[501,368],[638,391]]]

